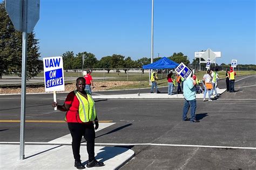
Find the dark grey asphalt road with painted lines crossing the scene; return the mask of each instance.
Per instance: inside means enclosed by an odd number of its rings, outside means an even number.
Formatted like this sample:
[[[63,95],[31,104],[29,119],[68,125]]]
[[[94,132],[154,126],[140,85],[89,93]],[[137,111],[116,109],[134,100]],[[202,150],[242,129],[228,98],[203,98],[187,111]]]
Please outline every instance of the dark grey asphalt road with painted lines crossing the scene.
[[[96,142],[128,144],[123,147],[133,149],[136,155],[122,169],[256,169],[255,149],[192,146],[256,147],[256,76],[237,80],[235,93],[225,92],[211,102],[198,99],[196,116],[200,123],[181,121],[183,99],[96,100],[99,119],[116,123],[97,132]],[[225,87],[224,80],[220,86]],[[65,96],[58,94],[60,103]],[[27,95],[26,120],[64,120],[65,113],[53,111],[51,101],[52,94]],[[20,102],[18,95],[0,96],[0,120],[19,120]],[[26,142],[48,142],[68,133],[65,123],[25,124]],[[0,134],[2,142],[19,141],[19,123],[1,122]]]

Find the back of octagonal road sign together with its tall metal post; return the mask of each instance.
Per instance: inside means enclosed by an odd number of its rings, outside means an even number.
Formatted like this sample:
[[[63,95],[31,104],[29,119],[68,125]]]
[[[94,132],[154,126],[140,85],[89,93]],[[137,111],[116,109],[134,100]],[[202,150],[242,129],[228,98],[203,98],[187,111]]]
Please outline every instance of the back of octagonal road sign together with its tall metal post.
[[[40,0],[5,0],[5,9],[14,28],[22,31],[22,89],[21,89],[21,132],[19,159],[25,158],[25,114],[26,114],[26,58],[27,39],[39,20]]]

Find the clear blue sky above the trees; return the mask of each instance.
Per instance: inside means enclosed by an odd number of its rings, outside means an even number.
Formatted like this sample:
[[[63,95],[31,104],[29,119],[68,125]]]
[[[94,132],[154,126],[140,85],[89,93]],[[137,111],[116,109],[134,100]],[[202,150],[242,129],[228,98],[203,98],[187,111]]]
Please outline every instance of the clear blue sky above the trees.
[[[41,0],[42,57],[66,51],[151,56],[151,0]],[[221,51],[217,63],[256,64],[254,0],[154,0],[154,57]]]

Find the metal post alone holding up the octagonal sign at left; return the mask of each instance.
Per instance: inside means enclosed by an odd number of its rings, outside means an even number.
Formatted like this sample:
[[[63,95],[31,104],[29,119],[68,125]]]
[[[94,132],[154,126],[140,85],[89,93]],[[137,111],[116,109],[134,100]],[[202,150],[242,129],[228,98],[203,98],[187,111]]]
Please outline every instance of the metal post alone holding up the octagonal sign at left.
[[[27,50],[27,12],[28,6],[27,1],[23,0],[23,32],[22,32],[22,91],[21,91],[21,134],[20,134],[20,144],[19,144],[19,160],[25,158],[24,144],[25,144],[25,114],[26,114],[26,50]]]

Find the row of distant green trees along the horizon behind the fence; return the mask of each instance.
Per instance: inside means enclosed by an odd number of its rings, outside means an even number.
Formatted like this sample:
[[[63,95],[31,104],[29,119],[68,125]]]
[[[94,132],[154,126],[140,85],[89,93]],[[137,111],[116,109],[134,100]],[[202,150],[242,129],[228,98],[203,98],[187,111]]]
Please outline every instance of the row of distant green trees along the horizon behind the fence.
[[[84,55],[84,66],[83,63]],[[79,52],[77,55],[73,51],[67,51],[63,53],[63,67],[64,70],[75,70],[75,69],[106,69],[109,73],[112,69],[123,69],[126,73],[127,69],[141,69],[143,65],[150,64],[151,58],[143,57],[137,60],[132,60],[131,57],[125,57],[122,55],[113,54],[112,56],[105,56],[98,60],[93,53],[90,52]],[[172,56],[168,57],[176,63],[183,62],[188,65],[190,62],[187,56],[184,56],[182,52],[174,52]],[[153,59],[153,62],[161,59],[157,57]]]

